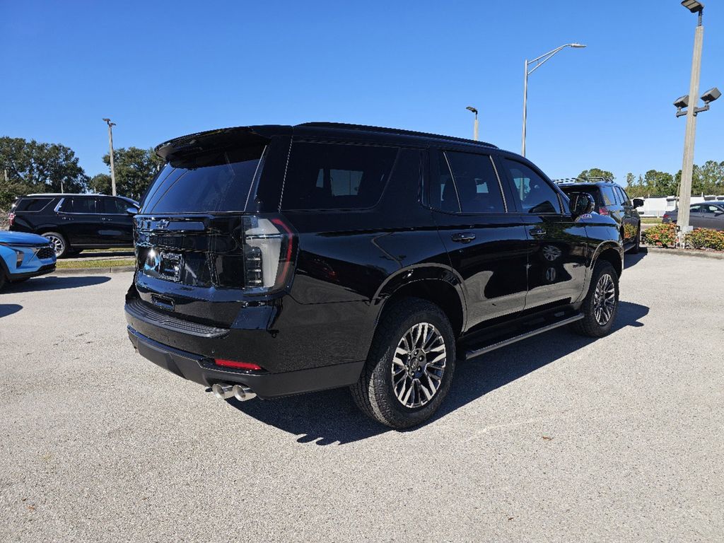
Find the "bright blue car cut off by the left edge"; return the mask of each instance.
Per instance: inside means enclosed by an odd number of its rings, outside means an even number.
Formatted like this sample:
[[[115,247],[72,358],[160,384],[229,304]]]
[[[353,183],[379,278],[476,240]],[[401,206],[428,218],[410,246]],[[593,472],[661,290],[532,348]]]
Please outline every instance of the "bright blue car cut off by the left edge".
[[[55,251],[45,237],[24,232],[0,232],[0,290],[7,282],[55,271]]]

